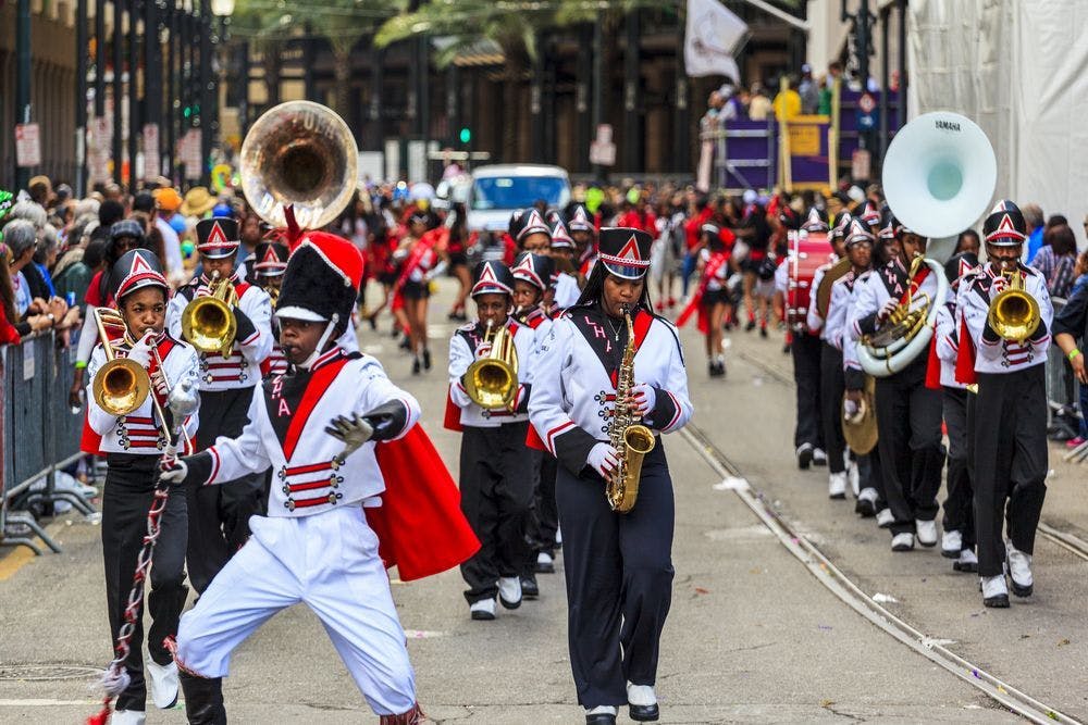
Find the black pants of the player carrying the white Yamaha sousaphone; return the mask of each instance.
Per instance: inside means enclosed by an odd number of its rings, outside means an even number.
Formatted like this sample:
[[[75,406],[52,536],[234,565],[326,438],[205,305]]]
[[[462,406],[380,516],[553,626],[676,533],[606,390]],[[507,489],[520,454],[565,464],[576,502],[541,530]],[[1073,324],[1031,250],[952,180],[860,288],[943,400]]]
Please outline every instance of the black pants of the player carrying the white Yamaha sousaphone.
[[[925,354],[905,370],[877,378],[877,427],[885,497],[895,516],[892,535],[914,533],[915,520],[937,517],[944,447],[941,392],[926,387]]]

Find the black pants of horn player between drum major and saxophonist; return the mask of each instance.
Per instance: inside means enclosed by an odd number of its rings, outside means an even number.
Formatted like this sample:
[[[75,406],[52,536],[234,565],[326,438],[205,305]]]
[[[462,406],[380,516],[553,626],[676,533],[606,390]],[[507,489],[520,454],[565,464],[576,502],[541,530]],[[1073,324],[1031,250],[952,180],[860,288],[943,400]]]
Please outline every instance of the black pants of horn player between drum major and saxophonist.
[[[498,578],[520,576],[535,555],[528,534],[541,452],[526,446],[528,430],[528,421],[496,428],[465,426],[461,511],[480,539],[480,551],[461,564],[470,604],[493,599]]]

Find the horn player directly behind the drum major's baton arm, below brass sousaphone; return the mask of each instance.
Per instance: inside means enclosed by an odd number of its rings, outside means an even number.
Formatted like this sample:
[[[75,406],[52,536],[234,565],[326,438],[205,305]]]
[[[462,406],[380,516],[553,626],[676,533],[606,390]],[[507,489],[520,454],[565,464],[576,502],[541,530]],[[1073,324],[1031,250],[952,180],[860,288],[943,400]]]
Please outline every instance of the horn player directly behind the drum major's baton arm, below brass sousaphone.
[[[170,335],[182,339],[186,305],[212,292],[213,279],[231,285],[238,297],[232,312],[237,322],[234,343],[226,355],[200,352],[200,428],[197,450],[209,448],[219,436],[238,436],[248,418],[249,401],[261,382],[261,363],[272,352],[272,304],[263,289],[240,282],[235,258],[240,237],[238,223],[228,217],[197,222],[197,251],[203,272],[178,288],[166,310]],[[249,537],[249,516],[260,511],[263,476],[245,475],[233,486],[190,489],[189,582],[203,592],[212,577]]]

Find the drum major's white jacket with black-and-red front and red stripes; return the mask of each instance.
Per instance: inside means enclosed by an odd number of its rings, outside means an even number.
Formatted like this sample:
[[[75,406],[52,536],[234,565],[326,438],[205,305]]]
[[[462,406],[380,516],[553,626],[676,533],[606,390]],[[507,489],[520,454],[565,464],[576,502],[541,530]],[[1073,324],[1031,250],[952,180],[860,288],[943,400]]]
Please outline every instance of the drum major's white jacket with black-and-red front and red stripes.
[[[341,460],[344,442],[325,427],[338,415],[363,415],[392,400],[407,411],[395,439],[419,420],[416,398],[395,386],[376,359],[333,347],[309,371],[296,370],[254,390],[242,435],[220,437],[207,450],[210,459],[202,465],[211,470],[203,484],[271,467],[269,516],[307,516],[376,497],[385,490],[376,443],[370,440]]]

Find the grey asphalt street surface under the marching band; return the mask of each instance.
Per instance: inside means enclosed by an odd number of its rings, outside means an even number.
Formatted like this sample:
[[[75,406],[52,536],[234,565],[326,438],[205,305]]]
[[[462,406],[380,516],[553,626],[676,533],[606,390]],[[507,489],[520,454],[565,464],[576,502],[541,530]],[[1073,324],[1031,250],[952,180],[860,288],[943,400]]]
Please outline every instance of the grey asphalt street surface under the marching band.
[[[443,282],[433,304],[436,367],[429,374],[410,375],[385,321],[384,333],[368,328],[360,338],[419,397],[423,425],[456,474],[458,436],[441,427],[455,324],[445,322],[450,285]],[[915,626],[1068,714],[1088,716],[1088,564],[1041,543],[1036,596],[984,611],[974,577],[953,575],[937,551],[893,555],[887,534],[856,520],[852,504],[828,501],[826,474],[796,470],[792,387],[759,362],[789,372],[780,340],[733,334],[729,375],[710,380],[701,340],[690,332],[683,339],[694,425],[799,530],[867,592],[893,597],[889,607]],[[657,683],[662,722],[1017,720],[833,597],[685,439],[669,436],[664,445],[678,505]],[[1079,485],[1073,472],[1060,477]],[[94,686],[110,659],[98,525],[72,515],[50,530],[63,553],[0,559],[2,723],[82,723],[96,711]],[[469,620],[457,571],[411,584],[392,573],[419,700],[434,722],[582,722],[567,659],[561,557],[557,564],[558,573],[540,576],[539,601],[500,610],[491,623]],[[246,641],[224,687],[234,723],[376,722],[304,608],[276,615]],[[630,722],[626,711],[620,720]],[[184,713],[152,711],[148,722],[183,723]]]

